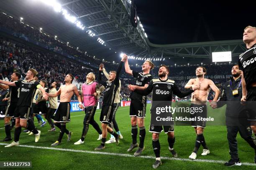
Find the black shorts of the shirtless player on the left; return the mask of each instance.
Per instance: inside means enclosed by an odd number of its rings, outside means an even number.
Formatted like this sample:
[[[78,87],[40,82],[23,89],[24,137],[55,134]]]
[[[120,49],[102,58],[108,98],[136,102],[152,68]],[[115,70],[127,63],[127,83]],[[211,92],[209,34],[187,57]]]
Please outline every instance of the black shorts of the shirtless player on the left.
[[[54,116],[54,122],[70,122],[70,103],[60,102]]]

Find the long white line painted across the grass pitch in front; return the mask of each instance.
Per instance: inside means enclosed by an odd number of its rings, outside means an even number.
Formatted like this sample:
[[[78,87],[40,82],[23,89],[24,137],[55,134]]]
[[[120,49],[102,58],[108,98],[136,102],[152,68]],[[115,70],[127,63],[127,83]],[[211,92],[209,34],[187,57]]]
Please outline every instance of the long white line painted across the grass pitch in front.
[[[0,143],[0,145],[8,145],[7,143]],[[100,155],[113,155],[113,156],[122,156],[122,157],[133,157],[133,155],[123,154],[123,153],[107,153],[107,152],[96,152],[96,151],[87,151],[87,150],[74,150],[74,149],[63,149],[63,148],[49,148],[49,147],[42,147],[42,146],[32,146],[32,145],[18,145],[19,147],[26,147],[26,148],[38,148],[38,149],[48,149],[48,150],[60,150],[60,151],[68,151],[68,152],[76,152],[76,153],[90,153],[90,154],[100,154]],[[138,156],[139,158],[146,158],[146,159],[156,159],[154,156]],[[206,162],[206,163],[219,163],[223,164],[226,161],[224,160],[190,160],[186,158],[169,158],[169,157],[161,157],[162,160],[181,160],[181,161],[191,161],[191,162]],[[242,163],[242,165],[248,166],[256,166],[255,163]]]

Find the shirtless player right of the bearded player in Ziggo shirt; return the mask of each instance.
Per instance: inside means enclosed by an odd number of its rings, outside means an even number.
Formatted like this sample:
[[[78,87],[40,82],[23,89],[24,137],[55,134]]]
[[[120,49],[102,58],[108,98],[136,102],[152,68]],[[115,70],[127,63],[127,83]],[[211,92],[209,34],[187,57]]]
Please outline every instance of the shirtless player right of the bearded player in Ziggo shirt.
[[[190,79],[189,82],[185,85],[185,88],[193,88],[195,85],[199,86],[198,90],[195,90],[195,92],[192,93],[191,97],[191,105],[190,107],[198,108],[194,110],[199,110],[198,112],[195,112],[194,114],[191,114],[191,117],[195,117],[195,121],[192,122],[192,127],[195,128],[195,133],[197,134],[197,138],[195,141],[195,148],[192,154],[189,156],[189,159],[195,160],[197,158],[197,151],[200,148],[200,145],[204,147],[203,152],[201,155],[207,155],[210,153],[210,150],[207,148],[205,143],[205,138],[203,135],[203,131],[206,125],[206,121],[200,121],[197,120],[197,117],[207,117],[207,97],[210,92],[210,88],[215,92],[215,97],[210,104],[211,106],[216,106],[216,101],[218,100],[218,97],[220,95],[220,90],[218,87],[215,86],[214,82],[212,80],[204,78],[206,74],[205,67],[197,67],[196,68],[196,76],[195,79]],[[200,112],[202,110],[202,112]]]

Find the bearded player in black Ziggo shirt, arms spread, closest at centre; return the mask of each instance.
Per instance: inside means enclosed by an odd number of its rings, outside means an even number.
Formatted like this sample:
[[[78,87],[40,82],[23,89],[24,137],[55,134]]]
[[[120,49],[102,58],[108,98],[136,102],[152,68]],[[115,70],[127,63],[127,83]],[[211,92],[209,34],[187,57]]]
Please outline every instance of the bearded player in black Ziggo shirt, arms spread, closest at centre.
[[[146,90],[138,90],[139,87],[136,85],[129,85],[129,89],[137,92],[141,95],[148,95],[152,92],[152,107],[151,107],[151,122],[150,122],[150,130],[152,133],[152,145],[153,150],[156,155],[156,162],[153,164],[153,168],[159,167],[161,165],[160,159],[160,143],[159,143],[159,134],[164,130],[164,133],[167,134],[168,143],[169,143],[169,151],[172,153],[174,157],[177,157],[177,153],[173,149],[175,137],[174,137],[174,123],[171,121],[169,125],[164,125],[164,123],[157,123],[155,121],[157,112],[157,107],[161,106],[161,108],[171,107],[172,106],[172,94],[177,95],[178,97],[185,97],[194,90],[197,89],[197,86],[193,86],[193,90],[188,90],[187,92],[181,92],[177,87],[176,83],[173,80],[168,79],[169,68],[166,65],[161,65],[159,67],[159,79],[153,79],[150,81]],[[137,89],[137,90],[136,90]],[[156,107],[157,106],[157,107]],[[172,117],[172,113],[169,112],[168,115]],[[156,125],[159,124],[159,125]],[[164,128],[163,128],[164,126]]]

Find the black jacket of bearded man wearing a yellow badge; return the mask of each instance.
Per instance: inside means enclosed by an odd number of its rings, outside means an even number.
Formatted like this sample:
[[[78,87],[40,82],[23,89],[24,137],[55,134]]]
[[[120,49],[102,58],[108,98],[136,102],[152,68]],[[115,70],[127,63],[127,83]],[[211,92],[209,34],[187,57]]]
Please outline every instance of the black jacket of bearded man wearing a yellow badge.
[[[232,90],[236,90],[236,89],[238,90],[238,94],[233,95]],[[227,104],[226,116],[246,117],[246,114],[244,114],[243,112],[245,108],[243,105],[241,105],[241,98],[242,98],[241,77],[239,77],[237,80],[234,80],[233,77],[230,77],[230,80],[225,82],[220,100],[217,102],[217,108]]]

